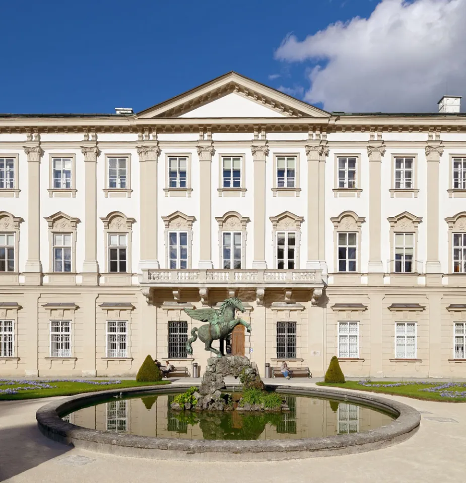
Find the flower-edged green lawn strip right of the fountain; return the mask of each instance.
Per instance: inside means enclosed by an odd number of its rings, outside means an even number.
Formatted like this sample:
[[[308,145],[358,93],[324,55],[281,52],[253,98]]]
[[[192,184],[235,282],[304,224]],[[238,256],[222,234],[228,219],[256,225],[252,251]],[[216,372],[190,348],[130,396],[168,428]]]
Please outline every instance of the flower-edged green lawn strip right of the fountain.
[[[317,382],[319,386],[343,387],[359,391],[381,392],[415,399],[445,401],[448,403],[466,402],[466,383],[463,382],[368,382],[346,381],[343,384]]]

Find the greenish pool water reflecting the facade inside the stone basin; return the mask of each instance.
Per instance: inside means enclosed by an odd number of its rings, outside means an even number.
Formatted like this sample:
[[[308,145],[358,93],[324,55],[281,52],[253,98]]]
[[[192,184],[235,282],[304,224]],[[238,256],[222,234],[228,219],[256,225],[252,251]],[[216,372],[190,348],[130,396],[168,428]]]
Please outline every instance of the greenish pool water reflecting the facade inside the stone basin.
[[[298,439],[368,431],[392,417],[327,399],[286,395],[287,413],[175,412],[174,395],[113,399],[63,417],[78,426],[179,439]]]

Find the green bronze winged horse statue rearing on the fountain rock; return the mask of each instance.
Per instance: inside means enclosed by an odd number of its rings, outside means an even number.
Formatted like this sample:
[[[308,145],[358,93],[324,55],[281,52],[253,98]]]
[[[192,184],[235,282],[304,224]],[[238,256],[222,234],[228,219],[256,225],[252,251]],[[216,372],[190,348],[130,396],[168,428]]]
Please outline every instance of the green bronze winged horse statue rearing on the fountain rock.
[[[251,332],[251,326],[242,320],[241,318],[235,318],[235,310],[244,312],[246,309],[243,307],[239,298],[227,298],[222,302],[219,309],[216,308],[198,308],[191,309],[185,308],[184,311],[193,319],[200,320],[201,322],[208,322],[204,326],[194,327],[191,330],[191,338],[186,342],[186,351],[188,354],[192,354],[191,344],[197,340],[197,336],[206,344],[206,351],[217,354],[218,357],[222,357],[222,354],[217,349],[212,347],[212,342],[218,339],[225,339],[228,334],[239,324],[244,326],[247,332]],[[197,332],[197,334],[196,334]]]

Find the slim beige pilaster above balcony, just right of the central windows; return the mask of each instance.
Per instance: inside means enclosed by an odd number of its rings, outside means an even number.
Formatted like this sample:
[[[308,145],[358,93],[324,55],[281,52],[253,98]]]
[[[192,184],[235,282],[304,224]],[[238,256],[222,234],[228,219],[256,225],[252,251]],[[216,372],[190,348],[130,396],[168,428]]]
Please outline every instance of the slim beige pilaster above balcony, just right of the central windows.
[[[269,154],[267,141],[258,141],[251,146],[254,165],[254,258],[252,268],[263,270],[265,262],[265,160]]]

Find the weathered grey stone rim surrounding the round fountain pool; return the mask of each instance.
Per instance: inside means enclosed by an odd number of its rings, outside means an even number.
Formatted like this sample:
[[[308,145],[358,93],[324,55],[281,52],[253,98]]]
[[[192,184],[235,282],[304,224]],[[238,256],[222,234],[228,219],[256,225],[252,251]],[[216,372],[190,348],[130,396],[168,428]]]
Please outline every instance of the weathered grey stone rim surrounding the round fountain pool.
[[[98,403],[111,395],[149,392],[182,392],[190,386],[144,386],[92,392],[49,403],[36,413],[39,430],[48,438],[71,446],[153,459],[204,461],[257,461],[330,456],[370,451],[410,438],[419,428],[420,413],[411,406],[372,394],[339,391],[333,388],[296,387],[269,384],[268,389],[289,394],[332,398],[362,404],[398,416],[390,424],[361,433],[323,438],[277,439],[254,441],[181,440],[152,438],[92,430],[62,421],[60,417],[85,405]]]

